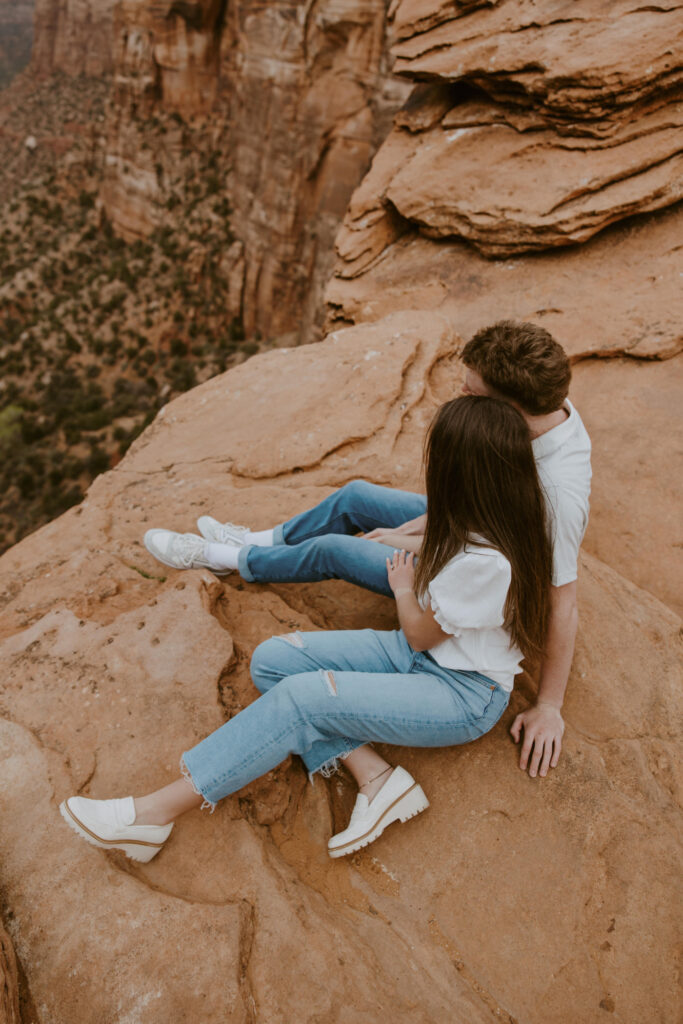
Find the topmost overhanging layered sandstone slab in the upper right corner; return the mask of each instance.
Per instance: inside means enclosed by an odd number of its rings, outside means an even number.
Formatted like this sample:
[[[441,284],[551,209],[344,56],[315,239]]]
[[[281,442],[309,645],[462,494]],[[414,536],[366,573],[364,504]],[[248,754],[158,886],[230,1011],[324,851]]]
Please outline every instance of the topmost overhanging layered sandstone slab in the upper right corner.
[[[395,71],[412,79],[480,84],[553,118],[611,120],[680,84],[680,10],[634,0],[399,0]]]

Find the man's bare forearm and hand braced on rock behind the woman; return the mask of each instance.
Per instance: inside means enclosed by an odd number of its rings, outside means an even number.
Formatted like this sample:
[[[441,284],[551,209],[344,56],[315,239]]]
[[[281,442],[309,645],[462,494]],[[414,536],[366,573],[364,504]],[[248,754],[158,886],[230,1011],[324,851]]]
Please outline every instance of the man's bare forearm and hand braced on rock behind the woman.
[[[545,776],[555,768],[562,749],[564,721],[562,701],[569,678],[571,658],[577,640],[579,611],[577,582],[550,588],[550,621],[546,653],[541,663],[539,695],[532,707],[515,718],[510,732],[517,743],[524,732],[519,767],[535,778]],[[530,761],[529,761],[530,757]]]

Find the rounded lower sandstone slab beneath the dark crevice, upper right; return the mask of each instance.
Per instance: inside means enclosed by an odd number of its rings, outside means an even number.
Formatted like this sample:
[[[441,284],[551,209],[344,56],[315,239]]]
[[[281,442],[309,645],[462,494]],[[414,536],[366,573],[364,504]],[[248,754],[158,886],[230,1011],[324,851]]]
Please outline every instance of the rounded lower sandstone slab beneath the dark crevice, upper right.
[[[460,236],[486,256],[585,242],[683,196],[682,116],[683,105],[660,108],[604,143],[500,123],[437,126],[395,166],[382,200],[424,233]]]

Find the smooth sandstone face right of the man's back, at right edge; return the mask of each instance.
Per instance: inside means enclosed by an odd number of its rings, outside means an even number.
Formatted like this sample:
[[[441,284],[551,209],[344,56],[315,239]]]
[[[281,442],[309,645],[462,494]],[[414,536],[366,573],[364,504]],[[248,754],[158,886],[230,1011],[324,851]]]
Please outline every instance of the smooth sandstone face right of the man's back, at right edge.
[[[587,359],[572,394],[593,439],[585,549],[683,615],[683,355],[666,362]]]

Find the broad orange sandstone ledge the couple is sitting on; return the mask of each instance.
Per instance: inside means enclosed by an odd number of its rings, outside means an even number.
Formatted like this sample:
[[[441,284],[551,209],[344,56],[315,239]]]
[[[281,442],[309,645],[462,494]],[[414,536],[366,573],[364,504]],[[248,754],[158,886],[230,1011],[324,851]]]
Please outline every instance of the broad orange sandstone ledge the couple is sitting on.
[[[459,343],[450,317],[401,311],[255,356],[166,407],[79,508],[0,559],[2,887],[41,1024],[674,1019],[681,624],[590,554],[565,751],[545,781],[507,734],[524,676],[480,741],[392,752],[431,808],[349,861],[326,841],[350,785],[310,786],[296,759],[187,815],[148,865],[88,847],[57,813],[70,793],[173,777],[255,698],[264,637],[393,627],[392,602],[348,585],[175,572],[141,537],[204,512],[265,527],[356,475],[418,487]]]

